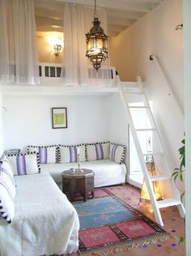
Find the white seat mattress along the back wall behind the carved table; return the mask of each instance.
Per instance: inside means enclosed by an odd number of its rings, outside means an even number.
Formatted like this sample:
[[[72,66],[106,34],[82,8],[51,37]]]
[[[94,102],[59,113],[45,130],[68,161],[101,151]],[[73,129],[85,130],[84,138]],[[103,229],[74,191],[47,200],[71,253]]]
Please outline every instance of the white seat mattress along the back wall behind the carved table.
[[[77,169],[77,163],[40,164],[41,173],[50,173],[54,181],[56,181],[58,184],[62,182],[61,173],[70,168]],[[82,162],[81,168],[91,169],[95,173],[95,187],[110,186],[125,182],[125,164],[117,164],[112,160],[105,159]]]

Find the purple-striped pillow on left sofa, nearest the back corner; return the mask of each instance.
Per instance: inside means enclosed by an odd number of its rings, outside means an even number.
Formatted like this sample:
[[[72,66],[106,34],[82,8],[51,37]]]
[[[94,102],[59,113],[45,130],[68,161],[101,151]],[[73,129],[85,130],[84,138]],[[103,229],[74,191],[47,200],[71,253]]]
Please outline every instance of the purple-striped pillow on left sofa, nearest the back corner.
[[[40,173],[38,153],[7,155],[7,159],[13,166],[14,175]]]

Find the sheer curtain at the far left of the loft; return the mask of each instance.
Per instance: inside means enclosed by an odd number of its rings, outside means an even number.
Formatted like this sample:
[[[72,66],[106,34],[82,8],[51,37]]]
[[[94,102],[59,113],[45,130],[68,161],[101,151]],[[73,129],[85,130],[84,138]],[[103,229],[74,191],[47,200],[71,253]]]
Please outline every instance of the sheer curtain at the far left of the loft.
[[[0,0],[0,82],[39,83],[33,0]]]

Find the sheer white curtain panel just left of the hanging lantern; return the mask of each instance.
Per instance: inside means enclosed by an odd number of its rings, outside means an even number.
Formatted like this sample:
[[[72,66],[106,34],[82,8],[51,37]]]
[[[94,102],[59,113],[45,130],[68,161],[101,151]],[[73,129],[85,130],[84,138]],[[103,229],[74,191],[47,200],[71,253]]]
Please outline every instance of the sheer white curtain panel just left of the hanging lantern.
[[[66,3],[64,12],[64,84],[88,84],[83,6]]]

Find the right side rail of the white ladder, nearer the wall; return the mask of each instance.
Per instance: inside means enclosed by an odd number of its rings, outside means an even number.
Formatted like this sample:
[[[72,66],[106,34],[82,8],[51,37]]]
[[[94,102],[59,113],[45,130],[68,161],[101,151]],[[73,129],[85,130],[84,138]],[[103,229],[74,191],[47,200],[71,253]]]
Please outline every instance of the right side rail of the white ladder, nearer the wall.
[[[168,175],[171,177],[171,175],[172,175],[172,173],[171,173],[171,171],[170,171],[171,167],[170,167],[170,165],[169,165],[169,163],[168,163],[168,160],[167,160],[167,158],[170,159],[170,157],[168,156],[168,151],[166,150],[166,147],[165,147],[165,145],[164,145],[164,143],[163,143],[162,136],[161,136],[161,134],[159,133],[159,130],[158,130],[158,128],[157,128],[157,125],[156,125],[156,122],[155,122],[155,118],[154,118],[154,116],[153,116],[153,113],[151,112],[151,106],[150,106],[150,104],[149,104],[148,97],[146,96],[145,89],[144,89],[144,87],[142,86],[142,79],[140,78],[140,76],[137,77],[137,81],[138,81],[138,86],[140,87],[140,89],[141,89],[142,92],[144,93],[144,96],[145,96],[145,99],[146,99],[146,105],[147,105],[147,107],[148,107],[148,110],[150,111],[151,120],[152,120],[152,122],[153,122],[153,124],[154,124],[154,126],[155,126],[155,130],[156,130],[156,133],[157,133],[158,138],[159,138],[159,143],[161,144],[161,147],[162,147],[162,150],[163,150],[163,153],[164,153],[163,159],[165,160],[165,162],[166,162],[166,164],[167,164],[167,167],[168,167],[167,172],[168,172]],[[179,191],[177,190],[174,181],[172,181],[172,178],[170,179],[170,182],[171,182],[171,184],[172,184],[172,188],[173,188],[173,191],[174,191],[174,193],[175,193],[176,199],[180,200],[180,193],[179,193]]]

